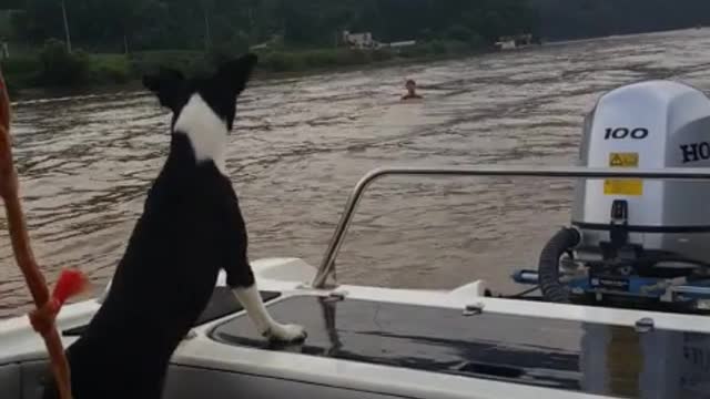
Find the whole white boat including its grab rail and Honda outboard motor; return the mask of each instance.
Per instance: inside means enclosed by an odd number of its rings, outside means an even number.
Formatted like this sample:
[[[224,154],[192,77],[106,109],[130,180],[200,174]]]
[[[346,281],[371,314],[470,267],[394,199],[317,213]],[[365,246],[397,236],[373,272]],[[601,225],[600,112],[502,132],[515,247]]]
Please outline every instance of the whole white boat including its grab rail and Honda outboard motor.
[[[700,149],[709,123],[710,100],[701,92],[635,83],[599,100],[585,122],[577,166],[368,173],[317,267],[297,258],[253,263],[270,311],[304,325],[305,342],[260,337],[220,276],[174,352],[164,397],[708,398],[710,167]],[[550,239],[537,269],[513,275],[532,285],[526,295],[496,293],[485,280],[452,290],[342,284],[336,259],[359,200],[389,176],[572,178],[572,226]],[[102,298],[62,309],[64,346]],[[145,311],[155,310],[146,304]],[[38,398],[48,357],[28,319],[1,321],[0,342],[2,397]]]

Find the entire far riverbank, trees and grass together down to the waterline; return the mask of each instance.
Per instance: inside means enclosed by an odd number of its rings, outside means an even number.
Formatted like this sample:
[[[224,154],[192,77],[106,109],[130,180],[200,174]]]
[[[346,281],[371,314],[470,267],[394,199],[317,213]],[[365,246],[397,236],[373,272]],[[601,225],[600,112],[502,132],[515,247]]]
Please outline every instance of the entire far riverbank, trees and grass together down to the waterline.
[[[257,50],[264,72],[469,54],[499,37],[561,40],[710,24],[708,0],[0,0],[17,88],[122,83]],[[64,14],[74,51],[68,51]],[[341,33],[417,45],[337,47]],[[14,51],[21,49],[24,51]],[[205,57],[205,53],[209,57]]]

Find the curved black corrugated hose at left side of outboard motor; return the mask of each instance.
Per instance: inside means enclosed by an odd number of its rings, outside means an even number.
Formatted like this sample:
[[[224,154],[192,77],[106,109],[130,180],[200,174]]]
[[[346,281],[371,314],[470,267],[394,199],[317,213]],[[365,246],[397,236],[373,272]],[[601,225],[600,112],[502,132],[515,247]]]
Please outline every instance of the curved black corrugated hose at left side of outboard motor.
[[[581,236],[577,229],[565,227],[557,232],[542,248],[538,273],[540,290],[546,300],[557,304],[569,303],[569,291],[559,282],[559,259],[565,253],[576,247],[580,241]]]

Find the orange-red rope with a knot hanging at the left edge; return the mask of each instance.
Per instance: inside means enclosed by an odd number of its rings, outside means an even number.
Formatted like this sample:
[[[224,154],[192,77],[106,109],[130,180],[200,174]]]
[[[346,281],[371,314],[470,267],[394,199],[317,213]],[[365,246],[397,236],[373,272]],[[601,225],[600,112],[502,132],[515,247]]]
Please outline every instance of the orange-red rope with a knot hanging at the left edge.
[[[85,279],[79,272],[64,270],[52,296],[49,295],[44,276],[32,254],[20,203],[18,175],[12,160],[10,120],[10,98],[0,71],[0,197],[4,202],[14,258],[37,306],[37,310],[29,315],[30,323],[32,328],[42,336],[47,346],[60,398],[71,399],[69,364],[55,328],[55,319],[64,301],[83,289]]]

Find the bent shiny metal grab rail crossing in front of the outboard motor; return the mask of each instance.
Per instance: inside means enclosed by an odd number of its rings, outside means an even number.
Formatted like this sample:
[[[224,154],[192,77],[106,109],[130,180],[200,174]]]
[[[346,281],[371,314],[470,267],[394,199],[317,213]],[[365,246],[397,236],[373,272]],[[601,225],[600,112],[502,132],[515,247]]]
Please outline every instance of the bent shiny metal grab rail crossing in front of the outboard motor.
[[[473,167],[383,167],[367,173],[355,186],[345,205],[345,211],[331,238],[327,250],[313,279],[312,286],[325,287],[335,267],[341,246],[349,228],[353,215],[367,187],[386,176],[429,176],[429,177],[575,177],[575,178],[649,178],[649,180],[690,180],[710,181],[710,168],[666,168],[666,170],[620,170],[587,167],[538,167],[538,166],[473,166]]]

